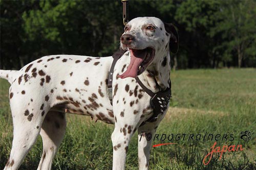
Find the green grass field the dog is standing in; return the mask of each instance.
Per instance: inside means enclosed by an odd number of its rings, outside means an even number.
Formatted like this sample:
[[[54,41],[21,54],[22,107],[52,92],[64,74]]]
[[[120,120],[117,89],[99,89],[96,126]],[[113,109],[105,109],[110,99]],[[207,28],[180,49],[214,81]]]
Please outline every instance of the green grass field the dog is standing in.
[[[202,163],[214,140],[172,140],[177,144],[153,148],[150,169],[256,169],[256,70],[195,69],[172,72],[173,99],[158,134],[233,134],[217,145],[242,144],[243,151],[215,153]],[[0,169],[8,160],[12,120],[7,81],[0,80]],[[111,169],[114,126],[94,123],[86,116],[67,115],[68,126],[53,169]],[[251,138],[242,140],[241,132]],[[230,139],[230,138],[228,138]],[[161,143],[155,141],[154,144]],[[36,169],[42,152],[39,137],[20,169]],[[129,146],[126,169],[138,169],[137,135]],[[207,161],[206,161],[207,162]]]

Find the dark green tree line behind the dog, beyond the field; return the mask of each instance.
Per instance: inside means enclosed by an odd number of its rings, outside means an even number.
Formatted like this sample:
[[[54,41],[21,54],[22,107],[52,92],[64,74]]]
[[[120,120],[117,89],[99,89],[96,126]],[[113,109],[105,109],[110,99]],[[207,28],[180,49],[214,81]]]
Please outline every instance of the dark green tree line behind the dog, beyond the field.
[[[1,69],[52,54],[111,56],[123,33],[121,1],[0,1]],[[256,1],[129,1],[129,18],[172,22],[175,68],[256,66]]]

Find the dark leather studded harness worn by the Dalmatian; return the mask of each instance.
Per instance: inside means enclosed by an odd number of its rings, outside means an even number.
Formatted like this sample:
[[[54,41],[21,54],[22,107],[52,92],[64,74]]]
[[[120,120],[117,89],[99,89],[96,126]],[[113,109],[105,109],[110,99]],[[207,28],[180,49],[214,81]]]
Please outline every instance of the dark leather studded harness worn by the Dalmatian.
[[[123,56],[123,54],[126,52],[127,50],[119,50],[116,53],[113,54],[113,62],[110,68],[110,72],[109,72],[109,79],[108,79],[108,88],[109,88],[109,95],[110,96],[110,100],[112,102],[112,82],[113,82],[113,73],[114,73],[114,68],[116,65],[116,62],[119,58],[121,58]],[[155,122],[158,118],[159,114],[163,114],[164,111],[167,109],[167,104],[170,100],[170,98],[172,98],[172,83],[169,80],[169,88],[166,88],[165,90],[162,91],[158,91],[156,93],[154,93],[153,91],[151,91],[150,89],[148,89],[147,87],[144,86],[144,84],[140,81],[140,79],[138,77],[135,78],[136,82],[140,85],[140,87],[148,94],[151,96],[151,100],[150,100],[150,104],[154,109],[154,113],[153,115],[146,119],[144,122],[142,122],[142,125],[144,125],[146,122]]]

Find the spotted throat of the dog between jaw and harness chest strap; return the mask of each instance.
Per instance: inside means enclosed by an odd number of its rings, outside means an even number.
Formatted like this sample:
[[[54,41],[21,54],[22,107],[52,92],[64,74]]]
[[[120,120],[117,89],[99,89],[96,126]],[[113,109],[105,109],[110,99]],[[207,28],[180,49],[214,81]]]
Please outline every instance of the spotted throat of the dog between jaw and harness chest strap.
[[[160,49],[161,51],[162,49]],[[156,53],[152,64],[139,76],[143,84],[153,92],[165,90],[170,80],[170,55],[168,47]]]

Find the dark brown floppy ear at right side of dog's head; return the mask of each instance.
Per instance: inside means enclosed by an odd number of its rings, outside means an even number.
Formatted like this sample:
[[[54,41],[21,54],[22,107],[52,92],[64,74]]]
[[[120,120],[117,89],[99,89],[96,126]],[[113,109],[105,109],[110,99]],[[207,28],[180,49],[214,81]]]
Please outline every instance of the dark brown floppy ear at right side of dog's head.
[[[179,34],[172,23],[164,23],[164,28],[170,35],[169,49],[170,52],[176,54],[179,49]]]

